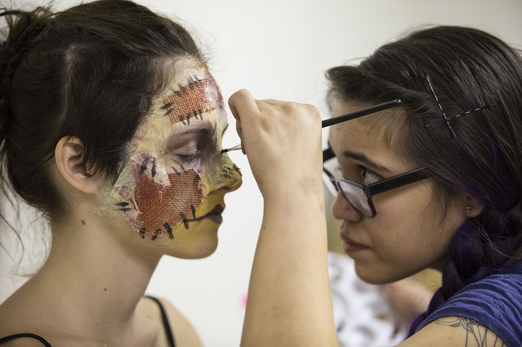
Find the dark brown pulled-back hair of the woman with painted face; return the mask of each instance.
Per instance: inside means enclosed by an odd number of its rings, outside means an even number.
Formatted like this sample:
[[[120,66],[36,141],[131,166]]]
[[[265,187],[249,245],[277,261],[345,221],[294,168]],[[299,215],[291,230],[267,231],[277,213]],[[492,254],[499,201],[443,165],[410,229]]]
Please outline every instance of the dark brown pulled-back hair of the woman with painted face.
[[[57,142],[78,137],[91,173],[115,178],[153,97],[170,82],[167,62],[201,54],[180,24],[125,0],[0,16],[3,187],[59,215],[64,202],[49,175]]]

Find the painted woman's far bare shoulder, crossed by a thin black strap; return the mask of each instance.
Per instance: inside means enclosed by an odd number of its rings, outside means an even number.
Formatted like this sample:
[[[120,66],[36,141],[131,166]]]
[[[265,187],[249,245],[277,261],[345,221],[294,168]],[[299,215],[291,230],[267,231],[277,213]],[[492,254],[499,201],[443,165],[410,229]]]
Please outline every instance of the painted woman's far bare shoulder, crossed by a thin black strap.
[[[192,326],[192,324],[176,309],[168,300],[157,298],[165,310],[165,314],[169,319],[169,326],[174,336],[176,346],[179,347],[203,347],[199,336]],[[140,302],[144,310],[155,312],[157,317],[161,320],[161,313],[158,304],[150,298],[143,298]],[[164,329],[159,329],[161,334],[164,334]]]

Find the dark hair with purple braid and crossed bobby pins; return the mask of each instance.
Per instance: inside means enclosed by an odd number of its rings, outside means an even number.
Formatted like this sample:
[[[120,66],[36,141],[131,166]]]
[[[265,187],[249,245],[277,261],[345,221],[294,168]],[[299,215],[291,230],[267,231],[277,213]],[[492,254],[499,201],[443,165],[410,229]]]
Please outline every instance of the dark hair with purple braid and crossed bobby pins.
[[[493,104],[450,121],[446,115]],[[369,104],[399,98],[401,110],[382,116],[390,145],[429,169],[440,202],[467,192],[484,206],[457,230],[430,311],[492,274],[520,247],[522,229],[522,58],[481,30],[435,27],[382,46],[359,66],[327,72],[330,98]],[[418,322],[420,323],[420,322]],[[413,330],[414,331],[414,330]]]

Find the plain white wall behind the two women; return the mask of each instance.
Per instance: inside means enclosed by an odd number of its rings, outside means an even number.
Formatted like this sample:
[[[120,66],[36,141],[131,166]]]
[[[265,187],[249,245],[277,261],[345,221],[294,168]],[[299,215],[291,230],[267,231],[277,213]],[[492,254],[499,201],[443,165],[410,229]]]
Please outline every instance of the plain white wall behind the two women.
[[[57,7],[75,3],[55,1]],[[437,23],[473,26],[522,48],[521,0],[139,3],[177,17],[197,32],[211,56],[209,67],[226,99],[234,91],[246,88],[256,98],[311,103],[319,107],[323,118],[328,117],[323,100],[325,69],[357,62],[357,58],[370,54],[409,28]],[[229,119],[232,123],[232,116]],[[231,126],[223,147],[238,143]],[[244,183],[239,191],[226,197],[227,209],[216,253],[198,261],[164,257],[148,287],[149,294],[164,296],[175,303],[208,347],[239,345],[243,299],[262,219],[263,202],[246,158],[240,152],[232,152],[230,156],[243,169]],[[30,232],[29,228],[29,235]],[[16,249],[16,241],[6,227],[0,231],[0,240],[11,250]],[[32,247],[27,251],[32,253]],[[35,262],[24,264],[30,268]],[[13,275],[16,269],[12,265],[10,257],[0,249],[0,302],[23,281]],[[22,267],[22,272],[27,268]]]

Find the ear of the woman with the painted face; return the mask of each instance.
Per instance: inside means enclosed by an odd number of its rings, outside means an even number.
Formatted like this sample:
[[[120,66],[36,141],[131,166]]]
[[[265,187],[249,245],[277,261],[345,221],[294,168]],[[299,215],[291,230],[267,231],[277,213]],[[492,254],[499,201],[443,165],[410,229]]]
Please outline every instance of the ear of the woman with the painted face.
[[[56,166],[65,180],[74,188],[87,193],[96,193],[96,180],[91,178],[84,164],[84,145],[76,137],[64,137],[54,149]]]

